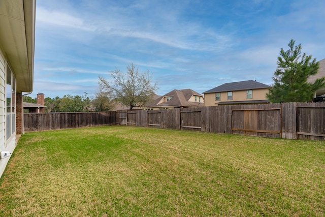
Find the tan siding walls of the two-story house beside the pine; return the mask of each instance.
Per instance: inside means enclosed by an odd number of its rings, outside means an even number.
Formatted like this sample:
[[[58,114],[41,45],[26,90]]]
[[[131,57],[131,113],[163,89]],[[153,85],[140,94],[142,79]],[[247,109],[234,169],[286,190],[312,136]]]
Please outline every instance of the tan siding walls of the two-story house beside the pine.
[[[215,92],[204,95],[204,106],[216,106],[216,103],[220,102],[232,102],[232,101],[251,101],[251,100],[267,100],[266,94],[269,92],[268,88],[253,89],[252,98],[246,99],[246,90],[233,91],[233,99],[227,100],[227,92],[220,93],[220,100],[215,100]]]

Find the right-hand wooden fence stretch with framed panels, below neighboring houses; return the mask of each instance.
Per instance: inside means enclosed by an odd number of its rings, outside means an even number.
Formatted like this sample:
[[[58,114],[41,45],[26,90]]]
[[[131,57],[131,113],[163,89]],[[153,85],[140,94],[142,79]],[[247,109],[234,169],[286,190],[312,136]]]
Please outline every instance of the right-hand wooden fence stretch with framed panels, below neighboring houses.
[[[224,105],[120,111],[117,125],[286,139],[325,139],[325,103]]]

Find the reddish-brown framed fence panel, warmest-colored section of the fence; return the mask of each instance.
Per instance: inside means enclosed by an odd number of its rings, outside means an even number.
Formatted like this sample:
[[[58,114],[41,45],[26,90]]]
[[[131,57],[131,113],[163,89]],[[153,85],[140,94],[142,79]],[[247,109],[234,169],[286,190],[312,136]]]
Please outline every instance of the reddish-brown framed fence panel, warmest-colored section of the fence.
[[[232,109],[232,133],[281,138],[281,109]]]

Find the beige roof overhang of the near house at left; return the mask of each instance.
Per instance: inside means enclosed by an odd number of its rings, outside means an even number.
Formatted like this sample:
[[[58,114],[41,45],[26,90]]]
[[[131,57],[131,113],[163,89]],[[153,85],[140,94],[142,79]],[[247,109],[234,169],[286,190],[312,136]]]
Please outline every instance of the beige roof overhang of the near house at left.
[[[17,81],[30,92],[34,79],[36,0],[0,1],[0,47]]]

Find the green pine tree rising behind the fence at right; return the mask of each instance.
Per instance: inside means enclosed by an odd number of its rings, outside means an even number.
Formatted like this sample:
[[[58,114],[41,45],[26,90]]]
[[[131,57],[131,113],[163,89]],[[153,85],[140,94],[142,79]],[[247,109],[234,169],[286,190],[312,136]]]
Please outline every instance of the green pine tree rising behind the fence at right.
[[[314,92],[324,87],[325,78],[316,79],[314,83],[307,81],[308,77],[317,74],[319,64],[316,58],[301,54],[301,44],[295,46],[291,39],[289,49],[280,50],[277,69],[274,72],[274,85],[267,94],[272,103],[280,102],[308,102],[312,100]]]

